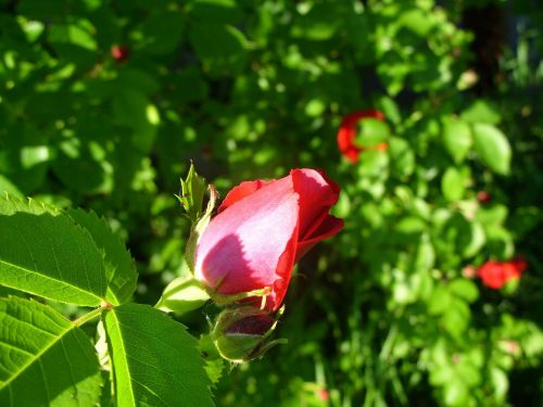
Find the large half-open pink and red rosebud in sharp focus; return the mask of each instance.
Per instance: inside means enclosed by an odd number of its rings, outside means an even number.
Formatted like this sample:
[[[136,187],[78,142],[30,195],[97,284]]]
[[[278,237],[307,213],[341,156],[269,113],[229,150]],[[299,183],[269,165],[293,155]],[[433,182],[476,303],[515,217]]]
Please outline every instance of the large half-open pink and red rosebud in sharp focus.
[[[240,183],[198,241],[194,277],[227,296],[268,289],[265,309],[277,310],[294,263],[343,227],[329,215],[339,192],[324,173],[306,168]]]

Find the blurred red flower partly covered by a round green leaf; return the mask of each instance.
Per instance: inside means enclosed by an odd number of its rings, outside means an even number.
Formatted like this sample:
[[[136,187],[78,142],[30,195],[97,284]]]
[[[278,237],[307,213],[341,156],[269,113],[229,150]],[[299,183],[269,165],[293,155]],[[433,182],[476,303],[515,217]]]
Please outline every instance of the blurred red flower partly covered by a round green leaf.
[[[338,147],[342,155],[344,155],[350,162],[356,163],[359,153],[365,150],[379,150],[386,151],[388,144],[382,142],[371,148],[362,148],[355,144],[357,128],[356,124],[363,118],[377,118],[378,120],[384,120],[384,115],[382,112],[377,110],[366,110],[366,111],[355,111],[343,117],[338,131]]]

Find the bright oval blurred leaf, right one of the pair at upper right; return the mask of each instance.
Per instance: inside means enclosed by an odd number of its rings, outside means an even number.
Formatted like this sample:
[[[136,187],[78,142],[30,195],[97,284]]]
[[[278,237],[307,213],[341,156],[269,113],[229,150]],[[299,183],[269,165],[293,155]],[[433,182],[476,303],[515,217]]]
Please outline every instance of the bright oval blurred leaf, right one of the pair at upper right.
[[[505,135],[496,127],[473,125],[475,150],[490,169],[501,175],[509,174],[512,150]]]

